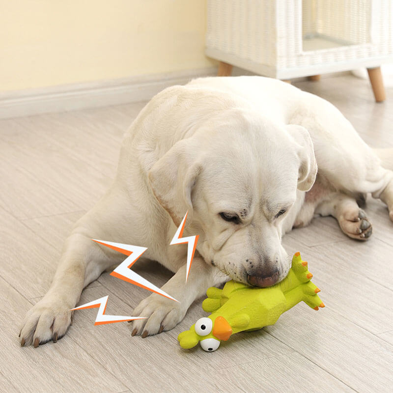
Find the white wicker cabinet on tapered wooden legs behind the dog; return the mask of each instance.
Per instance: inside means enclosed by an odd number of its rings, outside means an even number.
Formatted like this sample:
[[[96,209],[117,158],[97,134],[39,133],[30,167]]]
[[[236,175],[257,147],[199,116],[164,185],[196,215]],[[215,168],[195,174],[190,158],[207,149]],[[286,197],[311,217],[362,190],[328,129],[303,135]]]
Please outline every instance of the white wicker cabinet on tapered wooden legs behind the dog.
[[[220,75],[232,65],[283,80],[366,67],[383,101],[392,21],[390,0],[208,0],[205,52]]]

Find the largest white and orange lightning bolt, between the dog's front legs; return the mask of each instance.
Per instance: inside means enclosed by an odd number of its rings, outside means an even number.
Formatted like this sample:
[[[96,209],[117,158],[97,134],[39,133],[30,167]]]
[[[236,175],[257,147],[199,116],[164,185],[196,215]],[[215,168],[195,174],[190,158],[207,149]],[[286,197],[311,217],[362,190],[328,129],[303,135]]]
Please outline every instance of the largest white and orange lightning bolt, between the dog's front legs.
[[[172,296],[168,295],[168,293],[164,292],[162,289],[153,285],[151,282],[145,280],[139,274],[130,270],[130,267],[137,261],[140,255],[142,255],[147,250],[146,247],[131,246],[129,244],[121,244],[121,243],[113,243],[113,242],[105,242],[103,240],[95,240],[95,239],[91,239],[91,240],[94,240],[95,242],[107,246],[113,250],[116,250],[119,253],[128,255],[128,257],[124,259],[124,261],[119,266],[117,266],[116,269],[113,270],[111,276],[117,277],[118,279],[123,281],[131,282],[132,284],[138,285],[149,291],[158,293],[159,295],[165,296],[168,299],[178,302],[178,300],[172,298]]]

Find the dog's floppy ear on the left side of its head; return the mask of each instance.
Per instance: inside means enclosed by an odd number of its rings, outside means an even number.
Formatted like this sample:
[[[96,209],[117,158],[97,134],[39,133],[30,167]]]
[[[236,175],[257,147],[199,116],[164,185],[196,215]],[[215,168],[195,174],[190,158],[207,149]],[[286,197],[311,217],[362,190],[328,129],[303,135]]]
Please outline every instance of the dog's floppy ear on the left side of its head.
[[[154,196],[168,211],[176,226],[186,212],[192,222],[191,192],[202,166],[197,162],[199,146],[193,138],[176,142],[149,170],[148,177]]]

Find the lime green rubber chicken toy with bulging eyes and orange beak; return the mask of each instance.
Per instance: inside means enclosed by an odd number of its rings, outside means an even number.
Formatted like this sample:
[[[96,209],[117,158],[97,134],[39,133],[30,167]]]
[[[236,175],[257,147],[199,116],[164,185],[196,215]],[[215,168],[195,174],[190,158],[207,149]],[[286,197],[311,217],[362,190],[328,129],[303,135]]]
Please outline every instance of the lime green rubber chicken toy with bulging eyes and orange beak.
[[[202,349],[212,352],[232,334],[274,325],[283,312],[301,301],[315,310],[325,307],[311,277],[307,262],[295,253],[287,277],[278,284],[259,288],[228,281],[223,289],[210,287],[202,308],[212,314],[180,333],[180,346],[189,349],[200,342]]]

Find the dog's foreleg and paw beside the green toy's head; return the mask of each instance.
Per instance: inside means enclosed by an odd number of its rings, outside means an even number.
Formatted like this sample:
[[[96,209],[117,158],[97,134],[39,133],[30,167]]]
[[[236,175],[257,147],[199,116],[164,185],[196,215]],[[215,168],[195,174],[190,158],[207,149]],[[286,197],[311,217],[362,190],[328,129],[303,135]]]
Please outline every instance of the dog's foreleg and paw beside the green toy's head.
[[[208,265],[200,255],[195,255],[186,282],[186,265],[163,285],[162,289],[179,303],[153,293],[142,300],[133,312],[135,316],[145,316],[131,322],[132,335],[141,334],[143,338],[173,329],[186,314],[197,298],[206,294],[207,288],[227,281],[217,268]]]

